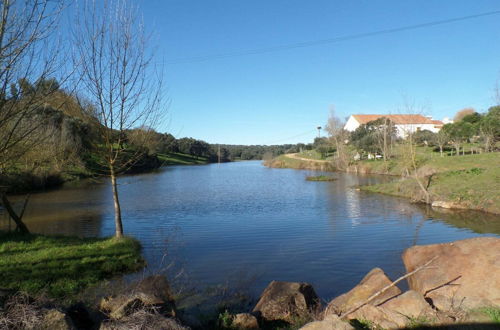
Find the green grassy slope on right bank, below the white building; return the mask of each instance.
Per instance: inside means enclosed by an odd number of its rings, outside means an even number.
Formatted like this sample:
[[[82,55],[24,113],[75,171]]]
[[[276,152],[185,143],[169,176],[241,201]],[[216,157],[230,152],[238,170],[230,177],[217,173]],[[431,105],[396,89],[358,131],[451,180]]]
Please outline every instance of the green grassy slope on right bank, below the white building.
[[[387,163],[394,163],[391,160]],[[365,173],[378,173],[382,161],[362,163]],[[373,164],[374,166],[370,166]],[[500,153],[432,157],[424,159],[418,169],[419,179],[427,186],[431,202],[444,201],[456,208],[500,214]],[[388,174],[401,175],[400,165],[388,166]],[[398,173],[399,172],[399,173]],[[422,201],[425,193],[414,178],[365,186],[362,190]]]

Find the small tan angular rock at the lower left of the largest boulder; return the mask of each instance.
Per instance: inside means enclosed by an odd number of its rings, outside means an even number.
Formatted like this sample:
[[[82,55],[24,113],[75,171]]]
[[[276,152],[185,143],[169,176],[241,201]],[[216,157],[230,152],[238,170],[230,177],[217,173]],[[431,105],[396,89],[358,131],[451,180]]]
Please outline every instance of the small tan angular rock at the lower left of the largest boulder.
[[[402,295],[383,303],[380,307],[404,315],[407,318],[436,318],[436,313],[425,301],[424,296],[413,290],[406,291]]]

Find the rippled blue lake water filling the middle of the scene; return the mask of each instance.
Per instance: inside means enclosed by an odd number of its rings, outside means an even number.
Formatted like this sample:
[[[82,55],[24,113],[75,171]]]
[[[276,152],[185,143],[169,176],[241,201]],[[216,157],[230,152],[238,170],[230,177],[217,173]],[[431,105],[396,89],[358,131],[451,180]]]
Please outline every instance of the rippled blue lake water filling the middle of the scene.
[[[401,253],[414,244],[500,236],[498,216],[436,212],[355,189],[386,177],[330,173],[338,180],[306,181],[311,174],[251,161],[121,177],[124,230],[141,241],[150,272],[253,295],[272,280],[304,281],[325,300],[374,267],[392,279],[403,275]],[[33,194],[25,221],[39,233],[112,235],[109,182]],[[0,226],[8,227],[6,215]]]

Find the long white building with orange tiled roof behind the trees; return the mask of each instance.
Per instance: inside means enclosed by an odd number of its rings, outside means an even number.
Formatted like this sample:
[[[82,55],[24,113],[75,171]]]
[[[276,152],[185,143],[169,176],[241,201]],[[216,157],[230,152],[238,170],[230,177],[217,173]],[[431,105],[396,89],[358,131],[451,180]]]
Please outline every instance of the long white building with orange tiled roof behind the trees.
[[[379,118],[387,118],[396,126],[397,136],[405,137],[410,132],[429,130],[437,133],[443,127],[443,122],[422,115],[351,115],[344,129],[353,132],[359,126]]]

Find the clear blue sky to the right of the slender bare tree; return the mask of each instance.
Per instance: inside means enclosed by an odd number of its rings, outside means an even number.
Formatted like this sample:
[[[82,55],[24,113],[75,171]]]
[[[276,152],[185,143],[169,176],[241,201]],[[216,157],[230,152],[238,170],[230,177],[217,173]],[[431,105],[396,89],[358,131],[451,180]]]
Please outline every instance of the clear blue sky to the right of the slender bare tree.
[[[404,98],[436,119],[484,112],[500,78],[500,14],[302,48],[215,56],[500,10],[498,0],[141,0],[165,63],[159,127],[210,143],[312,142],[340,117],[398,113]],[[194,57],[207,56],[207,60]],[[420,107],[419,107],[420,108]],[[322,132],[322,134],[325,134]]]

